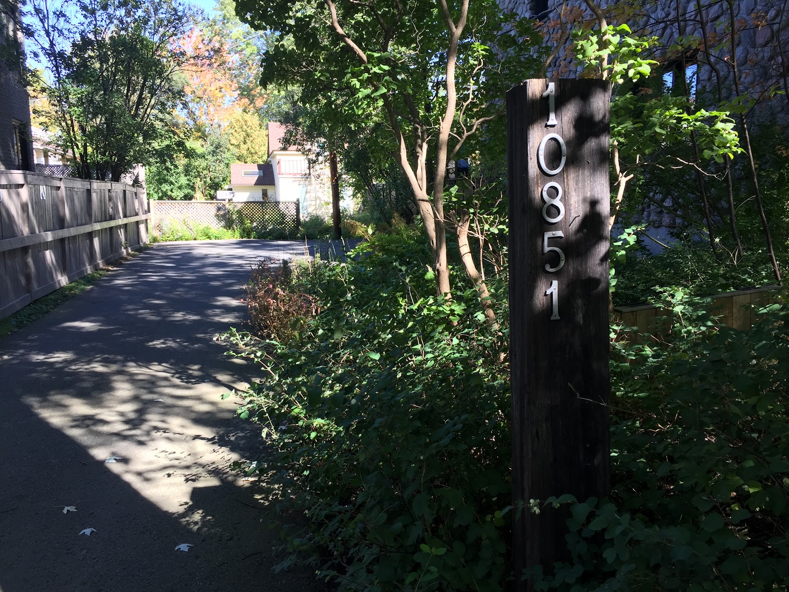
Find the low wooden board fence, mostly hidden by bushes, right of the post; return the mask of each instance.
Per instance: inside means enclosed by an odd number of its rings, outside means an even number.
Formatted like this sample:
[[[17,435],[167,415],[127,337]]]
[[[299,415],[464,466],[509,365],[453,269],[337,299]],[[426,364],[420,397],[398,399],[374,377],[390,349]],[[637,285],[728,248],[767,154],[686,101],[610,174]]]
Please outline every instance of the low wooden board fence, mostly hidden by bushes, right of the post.
[[[712,314],[720,324],[745,331],[756,322],[756,308],[775,302],[783,302],[786,292],[779,286],[763,286],[753,290],[737,290],[712,296]],[[622,321],[627,327],[637,327],[641,334],[652,333],[656,319],[666,317],[668,312],[657,306],[617,306],[611,320]]]

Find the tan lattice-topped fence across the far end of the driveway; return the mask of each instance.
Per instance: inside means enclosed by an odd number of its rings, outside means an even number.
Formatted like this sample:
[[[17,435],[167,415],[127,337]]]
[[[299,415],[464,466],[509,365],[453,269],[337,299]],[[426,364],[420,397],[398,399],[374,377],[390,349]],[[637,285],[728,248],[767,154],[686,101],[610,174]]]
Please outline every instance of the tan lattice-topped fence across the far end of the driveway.
[[[157,236],[169,225],[212,228],[230,226],[230,212],[238,212],[252,224],[297,230],[301,224],[297,201],[179,201],[150,200],[151,228]]]

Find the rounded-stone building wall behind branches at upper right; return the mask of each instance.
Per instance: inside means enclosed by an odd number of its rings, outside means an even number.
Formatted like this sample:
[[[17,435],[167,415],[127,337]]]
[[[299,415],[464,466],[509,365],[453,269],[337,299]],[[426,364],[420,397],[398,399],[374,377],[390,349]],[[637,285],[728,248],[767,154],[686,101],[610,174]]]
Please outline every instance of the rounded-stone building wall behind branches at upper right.
[[[569,32],[578,26],[596,26],[591,10],[584,0],[557,2],[548,0],[500,0],[504,11],[515,11],[526,17],[537,17],[546,43],[552,47],[562,37],[562,27]],[[537,10],[547,9],[542,13]],[[707,91],[717,97],[716,73],[724,98],[735,95],[731,69],[731,17],[726,0],[600,0],[610,24],[626,23],[639,36],[656,36],[657,58],[668,67],[681,62],[697,67],[697,92]],[[699,10],[701,4],[701,11]],[[679,6],[679,23],[677,9]],[[776,89],[787,90],[789,74],[789,13],[783,13],[775,0],[735,0],[733,2],[737,36],[737,66],[740,91],[761,103],[762,115],[775,115],[787,121],[789,97],[776,95]],[[559,13],[563,11],[563,18]],[[701,23],[705,24],[702,34]],[[549,77],[575,77],[580,73],[571,54],[570,41],[548,67]]]

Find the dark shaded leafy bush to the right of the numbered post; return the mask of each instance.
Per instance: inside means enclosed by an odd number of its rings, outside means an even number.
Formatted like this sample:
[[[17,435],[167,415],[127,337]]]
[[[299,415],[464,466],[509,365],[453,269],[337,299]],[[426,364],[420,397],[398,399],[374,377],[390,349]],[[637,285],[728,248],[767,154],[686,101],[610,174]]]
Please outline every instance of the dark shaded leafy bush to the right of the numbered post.
[[[673,302],[672,302],[673,300]],[[750,332],[667,298],[666,342],[614,328],[610,500],[571,504],[573,561],[535,590],[787,590],[789,310]]]

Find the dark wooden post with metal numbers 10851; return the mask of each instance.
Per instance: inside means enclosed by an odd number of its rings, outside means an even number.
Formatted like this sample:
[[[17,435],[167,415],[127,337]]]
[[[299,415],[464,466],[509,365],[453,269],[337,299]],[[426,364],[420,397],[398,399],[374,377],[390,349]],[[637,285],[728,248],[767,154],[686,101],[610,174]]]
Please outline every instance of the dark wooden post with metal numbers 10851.
[[[608,496],[608,82],[507,92],[514,499]],[[567,559],[567,508],[514,523],[522,569]]]

